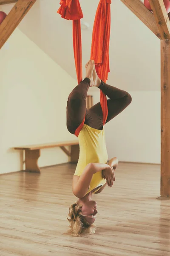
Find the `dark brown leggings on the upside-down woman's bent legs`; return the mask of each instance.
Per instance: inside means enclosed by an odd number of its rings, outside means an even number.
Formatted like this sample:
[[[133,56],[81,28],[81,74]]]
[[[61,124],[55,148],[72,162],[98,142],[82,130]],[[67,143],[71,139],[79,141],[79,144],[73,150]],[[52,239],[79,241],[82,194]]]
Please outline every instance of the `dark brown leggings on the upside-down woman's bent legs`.
[[[103,113],[100,102],[86,108],[86,98],[90,87],[90,79],[85,78],[68,96],[67,102],[67,128],[74,134],[85,116],[85,124],[92,128],[102,130]],[[102,82],[99,89],[108,96],[108,118],[106,123],[121,113],[132,101],[129,93]]]

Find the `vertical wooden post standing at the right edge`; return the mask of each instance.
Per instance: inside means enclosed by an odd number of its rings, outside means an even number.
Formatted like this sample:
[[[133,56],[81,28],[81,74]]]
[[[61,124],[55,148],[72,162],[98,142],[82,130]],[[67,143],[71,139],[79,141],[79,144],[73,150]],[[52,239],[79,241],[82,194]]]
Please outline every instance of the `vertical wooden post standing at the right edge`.
[[[170,197],[170,40],[161,40],[161,197]]]

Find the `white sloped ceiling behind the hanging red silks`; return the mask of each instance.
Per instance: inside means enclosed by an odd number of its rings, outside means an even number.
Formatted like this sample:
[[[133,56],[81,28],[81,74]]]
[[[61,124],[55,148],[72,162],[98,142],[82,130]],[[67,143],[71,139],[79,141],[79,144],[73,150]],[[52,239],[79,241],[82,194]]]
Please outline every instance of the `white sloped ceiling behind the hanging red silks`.
[[[83,66],[90,58],[91,35],[99,0],[80,0]],[[13,5],[2,6],[8,12]],[[37,0],[19,29],[74,79],[72,22],[56,12],[59,0]],[[160,41],[120,0],[111,4],[111,43],[108,83],[124,90],[160,90]]]

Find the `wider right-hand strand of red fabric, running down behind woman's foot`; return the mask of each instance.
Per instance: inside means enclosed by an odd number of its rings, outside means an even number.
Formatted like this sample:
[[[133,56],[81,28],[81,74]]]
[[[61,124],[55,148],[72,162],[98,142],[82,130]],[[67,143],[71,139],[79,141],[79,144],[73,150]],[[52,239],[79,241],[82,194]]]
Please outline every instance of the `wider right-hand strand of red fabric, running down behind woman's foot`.
[[[94,21],[91,59],[95,61],[96,72],[102,81],[108,80],[109,67],[109,43],[111,31],[111,0],[100,0]],[[100,104],[103,111],[103,124],[108,117],[108,105],[106,95],[100,90]]]

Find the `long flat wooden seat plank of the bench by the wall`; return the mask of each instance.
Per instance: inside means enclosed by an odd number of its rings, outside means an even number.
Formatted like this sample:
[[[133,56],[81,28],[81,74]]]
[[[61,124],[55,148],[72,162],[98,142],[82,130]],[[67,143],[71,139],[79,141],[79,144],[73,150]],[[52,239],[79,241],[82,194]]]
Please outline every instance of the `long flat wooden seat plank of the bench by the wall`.
[[[56,147],[62,147],[62,146],[70,146],[70,145],[79,145],[78,140],[69,140],[69,141],[60,141],[60,142],[54,142],[54,143],[46,143],[46,144],[37,144],[37,145],[24,145],[24,146],[18,146],[14,149],[17,150],[35,150],[35,149],[42,149],[42,148],[56,148]]]

